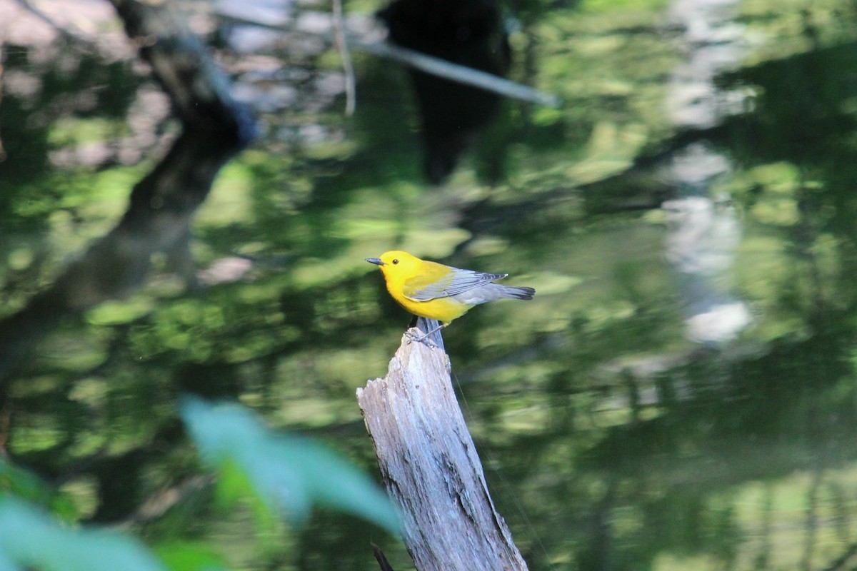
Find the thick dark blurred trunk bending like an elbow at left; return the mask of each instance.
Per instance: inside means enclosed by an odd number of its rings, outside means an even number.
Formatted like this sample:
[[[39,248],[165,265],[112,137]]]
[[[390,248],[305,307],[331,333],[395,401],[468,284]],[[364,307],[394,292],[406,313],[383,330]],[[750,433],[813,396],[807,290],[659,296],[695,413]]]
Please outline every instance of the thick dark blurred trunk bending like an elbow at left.
[[[117,227],[21,311],[0,320],[0,381],[66,315],[122,298],[145,282],[153,253],[189,255],[186,237],[220,168],[255,136],[255,119],[230,94],[207,48],[168,5],[112,0],[129,38],[183,123],[170,152],[131,192]]]

